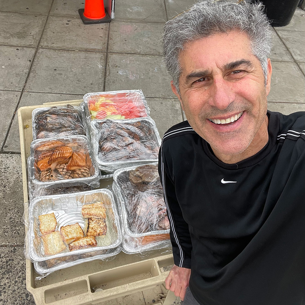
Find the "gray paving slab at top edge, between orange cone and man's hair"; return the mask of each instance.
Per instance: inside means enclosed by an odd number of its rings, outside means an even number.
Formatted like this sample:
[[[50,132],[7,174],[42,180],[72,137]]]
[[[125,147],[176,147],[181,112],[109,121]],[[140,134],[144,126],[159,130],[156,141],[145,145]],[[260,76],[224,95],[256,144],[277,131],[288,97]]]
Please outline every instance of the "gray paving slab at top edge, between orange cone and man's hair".
[[[116,0],[114,17],[120,20],[167,21],[163,0]]]

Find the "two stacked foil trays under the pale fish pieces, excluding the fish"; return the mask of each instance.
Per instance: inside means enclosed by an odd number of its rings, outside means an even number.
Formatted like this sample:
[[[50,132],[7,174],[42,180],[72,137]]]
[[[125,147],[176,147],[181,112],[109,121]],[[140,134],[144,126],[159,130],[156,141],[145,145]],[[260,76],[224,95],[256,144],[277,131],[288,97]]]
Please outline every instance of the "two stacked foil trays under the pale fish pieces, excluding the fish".
[[[86,219],[82,216],[81,209],[86,204],[100,202],[106,210],[106,234],[95,237],[96,246],[69,251],[69,246],[64,243],[65,248],[60,253],[46,254],[41,238],[43,235],[40,231],[39,215],[54,213],[57,221],[55,231],[59,231],[63,226],[78,223],[86,235]],[[121,251],[119,215],[113,194],[108,189],[64,196],[36,197],[30,202],[27,232],[26,256],[34,262],[35,270],[39,274],[46,275],[90,260],[107,259]]]

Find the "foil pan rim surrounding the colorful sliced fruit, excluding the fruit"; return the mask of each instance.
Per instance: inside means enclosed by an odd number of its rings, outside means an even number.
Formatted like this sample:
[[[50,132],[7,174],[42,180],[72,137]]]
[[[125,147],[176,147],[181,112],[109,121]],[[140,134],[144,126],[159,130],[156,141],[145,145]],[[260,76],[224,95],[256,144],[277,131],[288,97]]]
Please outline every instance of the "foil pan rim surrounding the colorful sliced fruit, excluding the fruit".
[[[96,100],[98,101],[101,98],[108,98],[113,99],[114,101],[116,99],[120,99],[120,97],[123,97],[123,100],[125,101],[132,101],[135,106],[144,106],[145,107],[145,114],[142,115],[142,117],[149,116],[149,106],[147,104],[147,101],[145,100],[145,96],[141,90],[119,90],[119,91],[105,91],[105,92],[92,92],[87,93],[84,95],[84,104],[85,104],[85,113],[87,119],[91,120],[91,113],[89,110],[89,101],[90,100]]]

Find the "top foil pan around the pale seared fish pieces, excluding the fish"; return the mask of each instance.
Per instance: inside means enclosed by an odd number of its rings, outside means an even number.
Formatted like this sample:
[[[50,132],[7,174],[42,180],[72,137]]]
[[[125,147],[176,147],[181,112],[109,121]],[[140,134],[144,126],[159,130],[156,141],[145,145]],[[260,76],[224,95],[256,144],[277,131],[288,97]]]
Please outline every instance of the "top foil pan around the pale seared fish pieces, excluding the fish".
[[[67,246],[61,253],[46,255],[41,240],[38,216],[54,213],[57,220],[56,231],[59,231],[62,226],[75,224],[77,222],[84,231],[85,219],[82,217],[81,207],[84,204],[96,202],[102,202],[104,204],[107,225],[105,237],[96,237],[97,246],[74,251],[69,251],[69,247]],[[29,254],[30,258],[36,262],[52,259],[60,262],[65,260],[65,258],[69,261],[71,259],[73,260],[77,255],[85,257],[86,254],[90,256],[92,253],[96,253],[101,256],[99,258],[103,258],[103,255],[106,255],[107,257],[110,254],[117,253],[116,248],[122,241],[117,207],[114,202],[113,194],[108,189],[98,189],[69,195],[36,197],[30,202],[29,223]]]

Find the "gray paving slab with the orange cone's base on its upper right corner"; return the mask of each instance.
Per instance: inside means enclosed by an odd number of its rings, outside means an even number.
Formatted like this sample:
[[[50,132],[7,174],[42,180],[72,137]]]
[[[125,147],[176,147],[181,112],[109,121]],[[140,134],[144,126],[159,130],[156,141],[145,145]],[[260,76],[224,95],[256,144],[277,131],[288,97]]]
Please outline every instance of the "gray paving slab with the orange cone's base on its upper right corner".
[[[40,47],[105,51],[108,23],[84,24],[80,18],[49,16]]]

